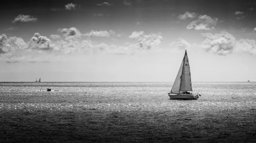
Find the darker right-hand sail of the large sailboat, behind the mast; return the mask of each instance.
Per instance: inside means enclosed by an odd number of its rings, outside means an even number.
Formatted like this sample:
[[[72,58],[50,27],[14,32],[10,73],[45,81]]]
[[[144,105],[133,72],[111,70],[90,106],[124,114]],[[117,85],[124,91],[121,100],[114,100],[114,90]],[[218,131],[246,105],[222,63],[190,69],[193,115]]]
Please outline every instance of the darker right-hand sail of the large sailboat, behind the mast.
[[[185,52],[183,62],[184,63],[183,63],[183,69],[181,74],[180,91],[192,91],[189,59],[186,52]]]

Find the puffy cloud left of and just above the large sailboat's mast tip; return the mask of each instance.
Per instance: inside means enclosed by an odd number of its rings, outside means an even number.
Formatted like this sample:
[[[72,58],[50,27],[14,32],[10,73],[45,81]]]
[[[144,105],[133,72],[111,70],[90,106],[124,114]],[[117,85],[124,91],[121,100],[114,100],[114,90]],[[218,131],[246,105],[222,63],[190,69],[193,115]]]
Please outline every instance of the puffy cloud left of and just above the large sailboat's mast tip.
[[[134,31],[130,36],[131,39],[138,39],[138,46],[142,49],[151,49],[157,47],[163,41],[163,37],[160,34],[145,35],[144,31]]]

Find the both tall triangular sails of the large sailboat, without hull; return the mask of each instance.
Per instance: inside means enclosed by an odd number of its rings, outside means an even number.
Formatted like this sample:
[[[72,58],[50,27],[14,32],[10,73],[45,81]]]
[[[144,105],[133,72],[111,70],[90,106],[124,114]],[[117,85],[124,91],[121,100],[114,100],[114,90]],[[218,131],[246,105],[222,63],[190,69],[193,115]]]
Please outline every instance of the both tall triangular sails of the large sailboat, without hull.
[[[189,59],[185,52],[179,72],[172,86],[171,93],[179,94],[183,91],[192,91]]]

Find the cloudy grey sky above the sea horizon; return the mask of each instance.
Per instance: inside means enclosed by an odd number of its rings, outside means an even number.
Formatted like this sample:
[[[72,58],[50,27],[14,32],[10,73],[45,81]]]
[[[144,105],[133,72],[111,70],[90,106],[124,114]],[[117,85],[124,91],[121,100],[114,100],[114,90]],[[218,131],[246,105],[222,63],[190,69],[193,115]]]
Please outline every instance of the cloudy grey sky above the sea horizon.
[[[0,81],[256,81],[254,0],[24,0],[0,5]]]

